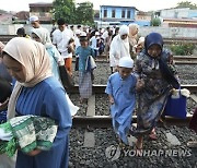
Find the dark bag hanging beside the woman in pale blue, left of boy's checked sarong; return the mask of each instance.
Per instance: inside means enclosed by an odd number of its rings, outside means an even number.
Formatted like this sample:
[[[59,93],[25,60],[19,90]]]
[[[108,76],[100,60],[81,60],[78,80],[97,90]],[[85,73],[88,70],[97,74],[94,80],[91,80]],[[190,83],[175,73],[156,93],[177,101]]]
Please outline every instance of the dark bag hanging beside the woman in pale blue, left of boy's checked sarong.
[[[59,75],[60,75],[61,83],[65,89],[74,87],[74,81],[70,76],[70,74],[67,72],[67,69],[65,68],[65,65],[59,65]]]

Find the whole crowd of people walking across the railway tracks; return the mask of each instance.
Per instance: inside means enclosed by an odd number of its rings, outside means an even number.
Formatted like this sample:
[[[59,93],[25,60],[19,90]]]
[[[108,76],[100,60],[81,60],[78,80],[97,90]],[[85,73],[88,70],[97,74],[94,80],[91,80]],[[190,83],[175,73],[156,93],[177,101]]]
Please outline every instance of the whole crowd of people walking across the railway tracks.
[[[137,149],[142,149],[146,134],[157,140],[155,127],[164,111],[167,96],[174,88],[179,88],[173,56],[164,49],[160,34],[151,33],[140,37],[137,24],[107,27],[105,31],[82,29],[79,25],[73,29],[67,26],[63,19],[59,19],[57,27],[53,27],[49,33],[42,27],[37,16],[31,16],[30,22],[33,26],[30,35],[22,27],[16,32],[19,37],[12,38],[5,46],[0,44],[0,77],[7,81],[7,84],[0,83],[0,87],[9,86],[12,91],[0,104],[0,119],[1,122],[8,120],[11,129],[19,133],[20,141],[25,144],[35,141],[26,136],[31,131],[35,132],[35,128],[31,130],[28,123],[15,130],[15,124],[26,123],[26,120],[19,120],[18,117],[49,118],[57,125],[57,132],[50,148],[34,146],[24,153],[22,143],[13,157],[0,155],[4,161],[0,163],[0,167],[68,167],[69,132],[72,115],[79,108],[72,111],[74,105],[61,83],[59,67],[65,65],[72,76],[73,56],[78,60],[76,71],[79,71],[81,104],[86,104],[92,95],[95,69],[92,63],[103,53],[112,70],[105,93],[109,98],[112,124],[119,142],[128,144],[127,136],[131,134],[137,136]],[[135,109],[137,128],[131,124]],[[42,121],[49,124],[47,120]],[[190,128],[196,130],[196,113],[192,122]],[[3,127],[0,124],[0,145],[3,145],[2,135],[7,135]],[[42,129],[45,130],[45,125],[42,124]]]

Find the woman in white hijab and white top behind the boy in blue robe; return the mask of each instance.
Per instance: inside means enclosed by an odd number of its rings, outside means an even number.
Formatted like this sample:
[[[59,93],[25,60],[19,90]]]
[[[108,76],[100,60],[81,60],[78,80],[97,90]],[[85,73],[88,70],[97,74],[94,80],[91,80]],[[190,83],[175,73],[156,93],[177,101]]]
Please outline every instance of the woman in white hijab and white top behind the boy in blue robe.
[[[128,41],[129,28],[123,25],[119,28],[119,34],[115,36],[111,43],[109,48],[109,64],[113,69],[112,72],[117,71],[117,65],[121,57],[130,57],[129,41]]]

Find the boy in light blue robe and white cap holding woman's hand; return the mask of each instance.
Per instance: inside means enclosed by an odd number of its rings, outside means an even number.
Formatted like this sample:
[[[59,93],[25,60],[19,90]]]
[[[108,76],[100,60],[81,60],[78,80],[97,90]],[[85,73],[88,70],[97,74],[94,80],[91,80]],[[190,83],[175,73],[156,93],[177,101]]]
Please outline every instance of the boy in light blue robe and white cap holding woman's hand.
[[[118,72],[108,77],[105,89],[111,103],[114,131],[125,144],[128,144],[127,134],[136,104],[137,79],[131,73],[132,68],[134,61],[130,57],[120,58]]]

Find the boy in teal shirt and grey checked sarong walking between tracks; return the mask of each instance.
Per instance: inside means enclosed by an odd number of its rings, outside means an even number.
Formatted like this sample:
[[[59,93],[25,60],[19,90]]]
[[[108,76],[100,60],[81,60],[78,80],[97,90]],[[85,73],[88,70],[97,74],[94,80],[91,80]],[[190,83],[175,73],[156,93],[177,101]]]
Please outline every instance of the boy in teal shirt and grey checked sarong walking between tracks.
[[[94,49],[89,46],[86,34],[83,33],[80,36],[80,44],[76,50],[76,56],[79,56],[79,93],[81,103],[88,101],[92,95],[92,70],[86,70],[86,61],[89,56],[94,57]]]

